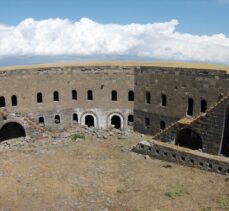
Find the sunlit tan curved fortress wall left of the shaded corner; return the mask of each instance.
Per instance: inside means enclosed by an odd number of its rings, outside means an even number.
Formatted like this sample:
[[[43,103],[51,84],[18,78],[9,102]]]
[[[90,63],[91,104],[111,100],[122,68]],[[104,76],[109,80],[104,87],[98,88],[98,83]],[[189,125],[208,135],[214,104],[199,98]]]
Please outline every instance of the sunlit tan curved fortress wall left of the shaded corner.
[[[134,71],[131,68],[49,68],[2,71],[0,74],[0,96],[5,97],[5,107],[9,112],[27,114],[38,121],[44,117],[50,129],[63,129],[77,113],[79,122],[84,112],[94,112],[98,116],[98,127],[106,127],[112,113],[123,114],[123,128],[127,128],[127,117],[133,113],[133,102],[128,101],[128,92],[134,87]],[[77,100],[72,99],[72,90],[77,91]],[[92,90],[93,100],[87,99],[87,91]],[[117,101],[111,100],[111,91],[117,91]],[[59,92],[59,101],[53,101],[53,92]],[[43,95],[43,102],[37,103],[37,93]],[[11,105],[11,96],[17,96],[17,106]],[[54,116],[60,115],[56,125]]]

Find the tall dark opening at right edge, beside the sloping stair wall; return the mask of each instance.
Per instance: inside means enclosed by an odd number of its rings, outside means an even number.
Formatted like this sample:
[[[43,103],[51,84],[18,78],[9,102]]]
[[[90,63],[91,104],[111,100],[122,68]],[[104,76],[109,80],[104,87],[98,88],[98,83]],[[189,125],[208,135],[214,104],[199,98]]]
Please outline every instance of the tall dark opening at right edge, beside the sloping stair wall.
[[[223,132],[223,142],[221,153],[224,156],[229,157],[229,106],[226,109],[225,113],[225,123],[224,123],[224,132]]]

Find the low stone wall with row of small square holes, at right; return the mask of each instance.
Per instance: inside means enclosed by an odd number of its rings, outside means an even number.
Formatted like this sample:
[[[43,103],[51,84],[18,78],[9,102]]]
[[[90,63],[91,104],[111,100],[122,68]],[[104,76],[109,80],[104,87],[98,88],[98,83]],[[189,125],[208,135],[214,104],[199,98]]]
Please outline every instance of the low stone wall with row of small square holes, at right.
[[[153,158],[229,175],[229,159],[188,150],[159,141],[140,142],[134,152]]]

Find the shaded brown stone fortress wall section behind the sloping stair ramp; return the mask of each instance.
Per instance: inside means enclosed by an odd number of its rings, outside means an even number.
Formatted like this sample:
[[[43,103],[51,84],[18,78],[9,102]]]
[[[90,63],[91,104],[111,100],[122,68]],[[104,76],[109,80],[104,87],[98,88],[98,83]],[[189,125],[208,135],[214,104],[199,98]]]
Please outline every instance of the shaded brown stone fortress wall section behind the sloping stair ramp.
[[[161,121],[168,126],[184,117],[189,97],[194,100],[195,115],[200,112],[201,99],[205,99],[209,107],[222,94],[228,95],[228,84],[229,74],[224,71],[141,67],[135,74],[135,130],[155,134],[160,130]],[[151,94],[150,104],[145,102],[146,92]],[[166,106],[161,105],[161,94],[167,97]],[[150,120],[148,126],[146,118]]]

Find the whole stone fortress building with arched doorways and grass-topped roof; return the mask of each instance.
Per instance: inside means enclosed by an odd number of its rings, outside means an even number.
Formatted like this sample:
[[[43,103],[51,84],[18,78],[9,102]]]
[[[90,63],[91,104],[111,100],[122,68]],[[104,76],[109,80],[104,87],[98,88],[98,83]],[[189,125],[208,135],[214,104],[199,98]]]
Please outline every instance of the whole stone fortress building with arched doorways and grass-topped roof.
[[[228,84],[228,67],[201,64],[2,67],[0,141],[80,124],[134,129],[162,142],[229,156]],[[152,149],[146,152],[139,144],[135,151],[150,154]]]

